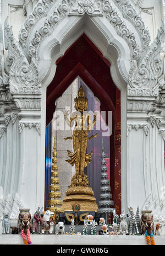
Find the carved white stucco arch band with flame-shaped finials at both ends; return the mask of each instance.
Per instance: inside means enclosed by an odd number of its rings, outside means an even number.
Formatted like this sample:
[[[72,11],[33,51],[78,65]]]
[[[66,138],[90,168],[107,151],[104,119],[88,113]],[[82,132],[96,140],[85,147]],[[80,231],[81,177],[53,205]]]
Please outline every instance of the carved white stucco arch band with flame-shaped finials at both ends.
[[[120,15],[121,10],[123,16]],[[103,15],[117,34],[127,41],[131,51],[129,86],[135,88],[134,90],[129,89],[129,95],[155,95],[157,93],[157,84],[161,85],[163,81],[163,63],[160,59],[160,52],[164,42],[164,24],[158,31],[155,41],[148,47],[150,43],[149,30],[145,28],[145,24],[134,6],[129,1],[124,1],[123,4],[123,0],[104,0],[102,2],[98,0],[72,2],[63,0],[58,3],[51,0],[38,1],[20,30],[19,42],[14,39],[6,20],[4,28],[5,49],[9,51],[8,61],[10,58],[13,59],[12,66],[10,66],[10,73],[12,72],[10,91],[12,93],[40,93],[40,87],[37,84],[46,76],[46,71],[50,66],[50,63],[47,62],[45,73],[39,71],[42,63],[39,58],[41,44],[45,40],[47,40],[47,44],[49,43],[48,37],[52,35],[53,30],[64,18],[68,19],[69,16],[74,15],[81,17],[85,13],[94,17],[97,15],[102,17]],[[127,20],[127,23],[124,19]],[[128,22],[134,26],[134,31],[132,28],[130,29],[131,26],[127,25]],[[40,28],[38,29],[39,24]],[[139,34],[139,38],[137,35],[135,36],[136,33]],[[22,49],[20,45],[23,47]],[[50,47],[50,51],[52,47]],[[17,72],[17,81],[15,81],[15,72]],[[19,73],[21,74],[20,77],[18,76]],[[26,84],[26,87],[23,87],[21,83]],[[145,91],[145,89],[147,90]]]

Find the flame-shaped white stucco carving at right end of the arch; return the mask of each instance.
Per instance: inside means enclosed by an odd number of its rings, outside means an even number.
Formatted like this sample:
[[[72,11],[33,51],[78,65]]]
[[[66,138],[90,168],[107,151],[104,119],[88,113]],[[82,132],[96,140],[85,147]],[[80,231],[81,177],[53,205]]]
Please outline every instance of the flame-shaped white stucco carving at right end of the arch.
[[[152,88],[154,92],[157,85],[161,86],[164,83],[163,62],[160,56],[163,43],[164,23],[162,23],[162,27],[158,30],[157,38],[151,46],[141,53],[138,63],[135,61],[131,62],[129,73],[130,87],[138,89]],[[149,90],[147,92],[149,93]],[[131,90],[129,90],[129,94],[131,94]]]

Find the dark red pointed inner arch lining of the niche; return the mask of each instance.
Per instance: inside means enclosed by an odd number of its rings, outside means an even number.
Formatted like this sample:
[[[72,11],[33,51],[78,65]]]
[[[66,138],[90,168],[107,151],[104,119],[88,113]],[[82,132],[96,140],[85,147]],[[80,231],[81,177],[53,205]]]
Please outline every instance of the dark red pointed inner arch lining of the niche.
[[[95,97],[100,100],[101,111],[112,111],[112,135],[110,136],[110,170],[111,190],[115,204],[121,209],[121,202],[118,199],[121,189],[121,179],[118,177],[118,190],[114,189],[117,179],[116,168],[116,118],[120,122],[120,108],[117,108],[117,97],[120,100],[120,91],[114,84],[109,68],[111,63],[103,57],[102,53],[85,35],[78,40],[56,61],[56,74],[47,87],[46,99],[46,125],[50,123],[53,113],[56,110],[55,102],[61,97],[76,77],[80,77],[92,90]],[[116,108],[118,113],[116,113]],[[119,131],[120,132],[120,131]],[[67,148],[66,148],[67,151]],[[101,145],[100,145],[101,151]],[[121,165],[120,154],[118,156],[118,167]],[[99,188],[100,184],[98,184]]]

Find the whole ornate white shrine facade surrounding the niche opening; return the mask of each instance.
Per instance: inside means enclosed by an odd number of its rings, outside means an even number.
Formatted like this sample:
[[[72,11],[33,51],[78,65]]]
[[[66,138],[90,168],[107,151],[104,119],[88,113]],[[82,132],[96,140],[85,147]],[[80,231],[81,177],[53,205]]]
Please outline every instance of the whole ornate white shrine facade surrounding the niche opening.
[[[0,216],[45,204],[47,87],[83,34],[120,90],[121,207],[165,216],[164,0],[2,0],[1,12]]]

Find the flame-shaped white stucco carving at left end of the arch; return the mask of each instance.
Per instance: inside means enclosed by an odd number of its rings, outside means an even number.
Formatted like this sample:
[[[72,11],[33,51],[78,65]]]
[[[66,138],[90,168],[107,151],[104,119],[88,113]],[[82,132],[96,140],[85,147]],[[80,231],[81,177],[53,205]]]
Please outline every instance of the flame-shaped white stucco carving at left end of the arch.
[[[18,41],[14,39],[12,28],[9,28],[8,20],[5,20],[4,25],[4,41],[5,49],[8,50],[8,62],[10,63],[10,92],[35,94],[40,93],[40,88],[35,87],[37,84],[37,68],[32,62],[29,64],[26,56],[21,49]],[[12,61],[12,62],[11,62]]]

